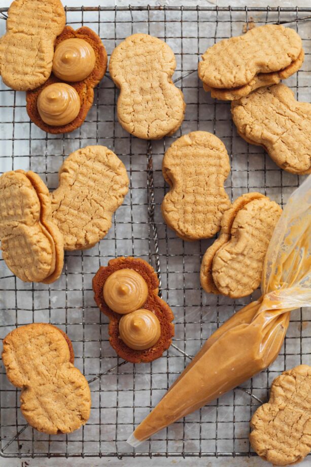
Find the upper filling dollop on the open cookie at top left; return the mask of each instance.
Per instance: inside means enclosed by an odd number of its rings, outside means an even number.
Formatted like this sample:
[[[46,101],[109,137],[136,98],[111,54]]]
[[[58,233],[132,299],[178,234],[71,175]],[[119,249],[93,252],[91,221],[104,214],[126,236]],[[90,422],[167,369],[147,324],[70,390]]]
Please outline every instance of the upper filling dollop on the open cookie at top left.
[[[55,49],[52,71],[64,81],[82,81],[94,70],[96,56],[92,46],[83,39],[60,42]]]

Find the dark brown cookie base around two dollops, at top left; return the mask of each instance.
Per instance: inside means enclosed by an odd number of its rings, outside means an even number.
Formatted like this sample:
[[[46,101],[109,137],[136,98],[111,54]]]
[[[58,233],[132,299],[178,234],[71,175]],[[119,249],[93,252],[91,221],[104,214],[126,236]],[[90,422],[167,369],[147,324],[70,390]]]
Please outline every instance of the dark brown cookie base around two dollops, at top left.
[[[53,126],[45,123],[38,112],[38,97],[43,89],[53,83],[64,83],[52,73],[50,78],[39,88],[29,91],[26,94],[26,109],[29,118],[39,128],[54,135],[59,133],[67,133],[73,131],[84,122],[88,111],[90,110],[94,99],[94,87],[102,79],[107,70],[107,53],[100,38],[90,28],[83,26],[75,30],[71,26],[66,26],[62,34],[58,36],[55,42],[55,47],[66,39],[78,38],[88,42],[95,52],[95,66],[92,73],[82,81],[66,82],[70,84],[79,94],[81,107],[78,116],[70,123],[61,126]]]

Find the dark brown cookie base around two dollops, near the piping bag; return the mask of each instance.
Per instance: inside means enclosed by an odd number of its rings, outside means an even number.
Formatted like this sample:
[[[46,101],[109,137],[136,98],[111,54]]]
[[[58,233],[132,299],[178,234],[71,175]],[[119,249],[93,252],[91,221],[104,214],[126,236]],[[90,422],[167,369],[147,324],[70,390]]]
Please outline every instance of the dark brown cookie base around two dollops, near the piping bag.
[[[159,340],[150,348],[135,350],[128,347],[119,336],[119,322],[123,317],[129,317],[132,313],[121,315],[112,311],[103,298],[103,286],[114,272],[121,269],[131,269],[139,273],[148,285],[147,301],[142,308],[150,310],[158,318],[161,327]],[[111,259],[108,266],[101,266],[93,278],[94,299],[99,310],[109,318],[110,344],[117,354],[124,360],[132,363],[149,362],[159,358],[168,349],[171,339],[174,337],[174,319],[169,306],[158,296],[159,280],[150,264],[143,259],[132,257],[119,257]],[[135,313],[135,312],[133,312]]]

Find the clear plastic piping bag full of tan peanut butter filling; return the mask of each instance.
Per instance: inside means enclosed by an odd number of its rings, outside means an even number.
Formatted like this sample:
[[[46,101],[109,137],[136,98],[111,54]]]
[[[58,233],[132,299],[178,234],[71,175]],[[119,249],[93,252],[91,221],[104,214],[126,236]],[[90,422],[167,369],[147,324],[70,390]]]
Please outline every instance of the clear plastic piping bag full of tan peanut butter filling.
[[[233,389],[277,358],[290,311],[311,304],[311,175],[294,191],[273,232],[262,296],[205,342],[127,442],[138,446],[162,428]]]

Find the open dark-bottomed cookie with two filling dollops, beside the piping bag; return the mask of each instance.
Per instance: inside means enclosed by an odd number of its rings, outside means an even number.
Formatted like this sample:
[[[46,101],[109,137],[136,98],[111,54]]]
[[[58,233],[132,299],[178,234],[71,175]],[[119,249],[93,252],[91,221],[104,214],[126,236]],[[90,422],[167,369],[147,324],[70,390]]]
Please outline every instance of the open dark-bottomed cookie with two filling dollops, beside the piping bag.
[[[159,297],[159,279],[141,258],[111,259],[93,277],[94,299],[109,318],[109,342],[132,363],[161,357],[174,337],[174,315]]]

